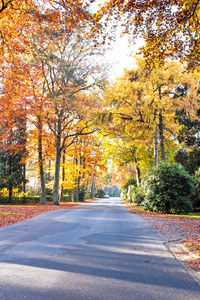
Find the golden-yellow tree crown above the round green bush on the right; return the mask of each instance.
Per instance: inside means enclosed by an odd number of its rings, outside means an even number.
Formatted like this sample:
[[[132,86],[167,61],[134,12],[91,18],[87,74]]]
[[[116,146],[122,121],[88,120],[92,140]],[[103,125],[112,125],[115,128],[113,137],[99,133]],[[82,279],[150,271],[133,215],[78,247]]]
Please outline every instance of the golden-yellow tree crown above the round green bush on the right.
[[[111,132],[131,140],[135,148],[141,149],[143,145],[152,149],[158,130],[164,162],[165,147],[170,149],[172,140],[177,138],[176,111],[186,109],[195,118],[199,109],[198,78],[198,72],[188,73],[178,62],[168,61],[162,68],[149,70],[144,60],[138,59],[137,67],[126,71],[104,95],[107,115],[112,119],[112,126],[108,125]],[[185,95],[177,89],[181,85],[188,86]],[[105,110],[102,114],[105,115]]]

